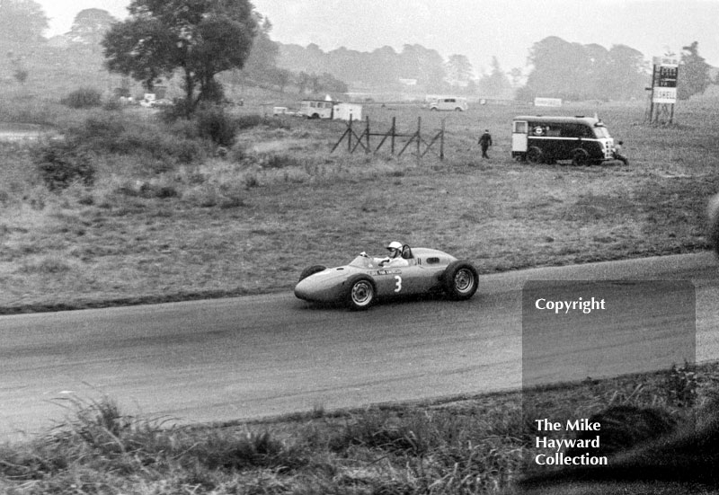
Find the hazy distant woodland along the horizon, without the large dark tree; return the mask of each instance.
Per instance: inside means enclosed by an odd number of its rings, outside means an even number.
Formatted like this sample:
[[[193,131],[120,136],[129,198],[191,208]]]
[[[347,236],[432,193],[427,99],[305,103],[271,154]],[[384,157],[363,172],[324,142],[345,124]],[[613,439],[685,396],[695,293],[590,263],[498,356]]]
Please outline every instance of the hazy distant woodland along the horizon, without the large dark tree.
[[[457,93],[523,101],[535,96],[606,101],[643,98],[651,81],[648,56],[626,45],[607,49],[550,36],[528,47],[527,66],[508,69],[492,57],[489,71],[476,74],[466,56],[445,58],[417,44],[368,52],[282,44],[271,39],[271,22],[261,13],[254,15],[258,29],[249,57],[242,69],[223,79],[280,93]],[[42,33],[48,20],[39,4],[0,3],[0,83],[28,84],[49,59],[62,70],[78,66],[91,67],[93,75],[102,72],[102,39],[116,21],[102,9],[85,9],[77,13],[70,31],[47,40]],[[696,41],[677,56],[679,99],[716,84],[714,69],[699,54]]]

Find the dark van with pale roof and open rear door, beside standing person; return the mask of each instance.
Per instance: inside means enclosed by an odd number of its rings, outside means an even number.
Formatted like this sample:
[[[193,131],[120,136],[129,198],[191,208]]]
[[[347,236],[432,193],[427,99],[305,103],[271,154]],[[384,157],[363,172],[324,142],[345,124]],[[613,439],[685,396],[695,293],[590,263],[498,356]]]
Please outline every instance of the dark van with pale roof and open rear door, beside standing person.
[[[522,115],[511,124],[511,155],[533,164],[572,160],[575,165],[613,159],[614,139],[600,119]]]

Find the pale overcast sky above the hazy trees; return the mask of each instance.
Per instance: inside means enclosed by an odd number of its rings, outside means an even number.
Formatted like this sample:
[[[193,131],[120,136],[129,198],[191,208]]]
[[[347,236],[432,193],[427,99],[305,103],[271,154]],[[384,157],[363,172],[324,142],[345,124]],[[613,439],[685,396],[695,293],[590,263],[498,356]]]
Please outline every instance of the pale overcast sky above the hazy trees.
[[[120,19],[129,0],[35,0],[50,18],[48,35],[69,31],[75,14],[101,8]],[[324,51],[371,51],[404,44],[466,55],[480,74],[492,57],[505,71],[526,66],[528,49],[547,36],[624,44],[644,56],[679,53],[698,41],[699,54],[719,66],[719,0],[253,0],[282,43]]]

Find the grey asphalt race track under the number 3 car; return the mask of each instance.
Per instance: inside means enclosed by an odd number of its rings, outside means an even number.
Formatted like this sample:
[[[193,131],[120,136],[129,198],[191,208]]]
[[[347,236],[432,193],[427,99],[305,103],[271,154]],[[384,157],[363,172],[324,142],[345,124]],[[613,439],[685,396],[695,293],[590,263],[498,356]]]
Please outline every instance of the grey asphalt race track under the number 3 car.
[[[528,280],[570,288],[581,280],[690,280],[697,362],[716,359],[717,274],[706,252],[482,276],[470,301],[395,302],[360,313],[288,292],[0,316],[0,441],[61,420],[61,399],[73,394],[107,394],[128,413],[196,422],[516,388]],[[641,331],[646,317],[638,311],[632,328]]]

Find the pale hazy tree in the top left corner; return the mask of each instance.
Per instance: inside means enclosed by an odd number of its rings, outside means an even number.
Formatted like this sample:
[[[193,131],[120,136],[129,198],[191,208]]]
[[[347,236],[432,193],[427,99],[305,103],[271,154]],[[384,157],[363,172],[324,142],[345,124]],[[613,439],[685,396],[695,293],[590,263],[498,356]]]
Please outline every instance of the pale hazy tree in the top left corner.
[[[21,43],[43,40],[48,17],[32,0],[0,0],[0,39]]]

